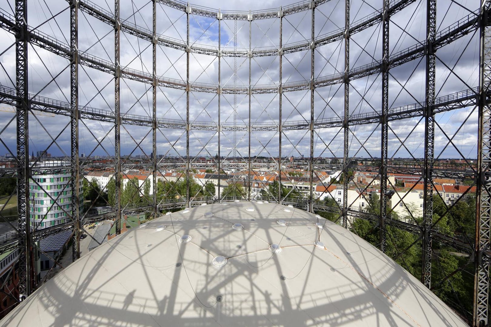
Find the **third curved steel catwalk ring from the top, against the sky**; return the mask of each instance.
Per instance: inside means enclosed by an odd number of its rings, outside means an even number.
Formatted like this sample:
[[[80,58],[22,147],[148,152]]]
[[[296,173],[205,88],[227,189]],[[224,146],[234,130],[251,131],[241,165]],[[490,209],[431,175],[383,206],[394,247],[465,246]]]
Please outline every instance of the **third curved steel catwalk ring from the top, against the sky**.
[[[458,22],[440,30],[436,35],[436,42],[433,44],[433,49],[437,50],[451,42],[463,37],[464,35],[475,31],[477,29],[477,16],[475,14],[469,14]],[[0,27],[12,33],[16,32],[15,20],[13,16],[4,10],[0,9]],[[73,57],[69,45],[56,40],[55,38],[43,33],[39,30],[33,30],[29,27],[30,42],[35,44],[45,50],[49,50],[57,55],[63,56],[69,60]],[[422,57],[427,49],[426,41],[421,41],[405,50],[393,53],[389,60],[389,68],[393,68],[402,65],[406,62],[414,60],[416,58]],[[277,51],[276,51],[277,54]],[[89,54],[87,52],[79,52],[80,64],[86,65],[87,67],[95,68],[102,72],[114,75],[115,65],[114,63]],[[361,78],[381,72],[382,60],[377,60],[372,63],[356,67],[349,72],[350,79]],[[121,76],[136,81],[141,81],[144,83],[152,84],[153,75],[150,73],[145,73],[142,71],[137,71],[128,67],[121,67]],[[328,76],[321,76],[314,80],[314,87],[323,87],[328,85],[335,85],[342,83],[344,80],[344,73],[336,73]],[[168,78],[164,76],[158,76],[157,82],[159,86],[169,87],[179,90],[186,90],[187,83],[184,80],[179,80],[175,78]],[[249,88],[246,86],[227,86],[227,85],[216,85],[209,83],[199,83],[190,82],[191,91],[196,92],[208,92],[222,94],[248,94]],[[311,83],[309,80],[303,81],[293,81],[283,83],[281,86],[281,92],[299,91],[299,90],[310,90]],[[266,84],[266,85],[251,85],[250,92],[252,94],[268,94],[268,93],[278,93],[279,84]]]

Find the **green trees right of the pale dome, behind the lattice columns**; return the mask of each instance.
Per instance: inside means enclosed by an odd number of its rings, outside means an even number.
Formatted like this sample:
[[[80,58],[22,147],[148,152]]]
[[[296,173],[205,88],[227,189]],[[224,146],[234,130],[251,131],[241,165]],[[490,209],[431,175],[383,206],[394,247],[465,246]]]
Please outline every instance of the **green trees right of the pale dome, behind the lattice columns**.
[[[457,201],[450,209],[438,196],[433,197],[433,223],[439,232],[452,236],[455,233],[468,237],[475,226],[475,198],[468,197]],[[321,216],[339,222],[341,210],[332,198],[326,198],[324,204],[331,207],[330,212],[318,212]],[[416,210],[412,203],[406,204],[407,215],[412,216],[415,223],[421,226],[422,216],[414,216]],[[380,227],[378,218],[380,215],[380,199],[377,194],[372,194],[366,209],[374,219],[355,218],[351,221],[349,229],[375,247],[380,246]],[[398,219],[397,213],[387,207],[387,215],[391,219]],[[391,257],[399,265],[408,270],[412,275],[421,278],[422,265],[422,241],[419,235],[399,229],[394,226],[385,225],[385,254]],[[472,289],[467,289],[464,276],[458,258],[452,254],[455,249],[445,247],[438,242],[433,242],[434,258],[432,261],[432,285],[434,293],[443,301],[453,305],[460,299],[469,299],[463,304],[464,309],[471,309]],[[450,276],[450,277],[448,277]],[[470,303],[470,304],[469,304]],[[455,305],[453,305],[456,307]],[[462,309],[459,308],[459,309]]]

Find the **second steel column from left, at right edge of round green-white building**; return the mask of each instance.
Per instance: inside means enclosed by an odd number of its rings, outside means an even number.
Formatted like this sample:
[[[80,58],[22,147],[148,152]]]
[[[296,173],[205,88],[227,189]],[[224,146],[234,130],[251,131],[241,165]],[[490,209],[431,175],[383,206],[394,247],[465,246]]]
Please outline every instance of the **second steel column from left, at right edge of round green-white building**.
[[[72,0],[70,4],[70,105],[72,115],[71,127],[71,151],[72,151],[72,219],[73,219],[73,243],[72,260],[80,257],[80,165],[79,165],[79,0]]]

